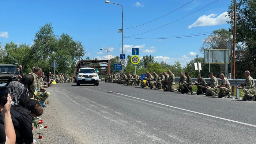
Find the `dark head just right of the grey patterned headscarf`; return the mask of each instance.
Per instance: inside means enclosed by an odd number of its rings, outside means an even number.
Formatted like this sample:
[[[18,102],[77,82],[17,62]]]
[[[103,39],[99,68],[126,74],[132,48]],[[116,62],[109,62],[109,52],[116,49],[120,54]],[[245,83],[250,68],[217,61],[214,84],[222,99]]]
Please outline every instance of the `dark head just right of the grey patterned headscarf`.
[[[29,98],[29,89],[32,83],[34,82],[34,76],[31,74],[24,75],[20,80],[24,84],[25,90],[22,94],[22,98]]]

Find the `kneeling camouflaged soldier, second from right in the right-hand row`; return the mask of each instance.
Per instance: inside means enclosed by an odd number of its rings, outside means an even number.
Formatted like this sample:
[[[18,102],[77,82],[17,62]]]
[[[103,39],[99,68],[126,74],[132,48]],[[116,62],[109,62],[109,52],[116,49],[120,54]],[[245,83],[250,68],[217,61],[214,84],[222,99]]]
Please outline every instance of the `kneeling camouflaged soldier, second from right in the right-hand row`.
[[[221,73],[219,75],[219,78],[221,79],[221,84],[217,87],[219,88],[219,98],[226,98],[228,96],[228,98],[230,98],[230,83],[229,80],[225,77],[225,75],[223,73]]]

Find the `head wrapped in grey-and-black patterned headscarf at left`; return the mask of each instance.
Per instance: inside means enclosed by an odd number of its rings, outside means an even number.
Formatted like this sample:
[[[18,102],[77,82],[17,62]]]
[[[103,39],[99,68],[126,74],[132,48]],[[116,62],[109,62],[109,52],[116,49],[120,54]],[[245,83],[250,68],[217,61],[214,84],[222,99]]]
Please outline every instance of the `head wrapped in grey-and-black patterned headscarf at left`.
[[[24,85],[20,82],[13,81],[7,86],[8,95],[11,96],[11,105],[18,105],[20,96],[24,92]]]

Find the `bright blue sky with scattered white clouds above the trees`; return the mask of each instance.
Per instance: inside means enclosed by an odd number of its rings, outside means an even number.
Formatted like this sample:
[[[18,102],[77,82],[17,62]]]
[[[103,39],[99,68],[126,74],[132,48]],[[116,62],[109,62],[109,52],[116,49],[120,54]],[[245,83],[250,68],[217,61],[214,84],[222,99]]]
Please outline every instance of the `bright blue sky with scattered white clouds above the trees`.
[[[124,37],[135,35],[163,26],[216,1],[193,0],[188,5],[154,22],[133,29],[125,29],[149,22],[163,16],[191,0],[109,0],[124,7]],[[33,43],[34,34],[40,26],[52,23],[55,34],[67,33],[75,41],[82,41],[85,57],[105,59],[106,50],[111,57],[120,56],[122,27],[121,6],[104,0],[8,0],[0,1],[0,41]],[[225,15],[230,0],[219,0],[177,22],[135,38],[159,38],[189,35],[229,28]],[[153,55],[156,61],[168,64],[180,61],[182,66],[199,53],[202,41],[207,35],[176,39],[130,39],[124,38],[124,54],[131,55],[131,48],[139,48],[139,56]],[[103,58],[105,57],[105,58]]]

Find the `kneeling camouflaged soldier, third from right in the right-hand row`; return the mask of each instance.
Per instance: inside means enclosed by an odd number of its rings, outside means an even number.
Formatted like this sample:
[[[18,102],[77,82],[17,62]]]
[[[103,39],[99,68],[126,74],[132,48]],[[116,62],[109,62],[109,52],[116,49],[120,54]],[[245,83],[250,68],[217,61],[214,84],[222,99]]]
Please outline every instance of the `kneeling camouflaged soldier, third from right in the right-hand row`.
[[[212,72],[208,73],[208,76],[211,78],[210,82],[208,84],[207,91],[205,93],[205,96],[217,96],[217,91],[218,91],[218,80],[217,78],[213,75]]]

